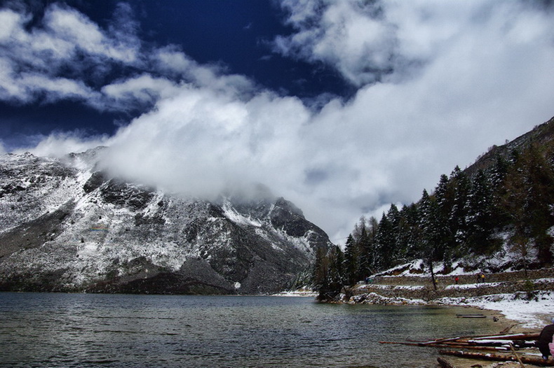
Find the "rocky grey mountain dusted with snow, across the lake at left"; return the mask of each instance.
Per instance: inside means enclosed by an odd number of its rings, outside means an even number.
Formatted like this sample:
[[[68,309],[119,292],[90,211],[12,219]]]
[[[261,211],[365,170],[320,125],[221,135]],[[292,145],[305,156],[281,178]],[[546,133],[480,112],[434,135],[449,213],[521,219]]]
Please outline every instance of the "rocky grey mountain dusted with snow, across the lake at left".
[[[0,157],[0,290],[276,292],[332,245],[262,185],[171,194],[98,169],[106,150]]]

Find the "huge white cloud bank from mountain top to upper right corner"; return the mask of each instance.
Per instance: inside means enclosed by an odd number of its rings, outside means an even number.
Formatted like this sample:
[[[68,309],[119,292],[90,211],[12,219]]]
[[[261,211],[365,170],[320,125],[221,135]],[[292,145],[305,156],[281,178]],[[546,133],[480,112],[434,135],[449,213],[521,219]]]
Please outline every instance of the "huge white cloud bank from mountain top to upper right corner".
[[[337,239],[360,215],[416,201],[440,174],[553,115],[552,13],[515,1],[284,4],[297,31],[277,38],[276,49],[335,67],[358,85],[350,101],[311,111],[168,46],[149,59],[163,77],[144,73],[100,91],[114,104],[154,104],[104,142],[113,149],[107,164],[201,195],[260,181]],[[0,40],[25,22],[5,16],[15,25],[0,29]],[[6,80],[2,93],[24,98],[20,81]],[[86,98],[79,87],[67,83],[62,92]],[[60,141],[41,143],[41,152],[64,148]]]

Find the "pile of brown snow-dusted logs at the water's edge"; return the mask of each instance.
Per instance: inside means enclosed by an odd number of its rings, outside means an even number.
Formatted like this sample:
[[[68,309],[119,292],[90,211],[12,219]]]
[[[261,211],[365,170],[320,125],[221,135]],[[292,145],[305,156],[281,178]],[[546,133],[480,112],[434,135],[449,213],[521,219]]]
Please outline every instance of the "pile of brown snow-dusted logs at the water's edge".
[[[540,367],[554,367],[554,359],[544,360],[535,348],[534,342],[539,333],[497,334],[478,337],[448,337],[428,341],[379,341],[381,344],[402,344],[439,348],[441,355],[453,355],[460,358],[478,360],[513,361]],[[447,361],[438,360],[441,367],[447,367]]]

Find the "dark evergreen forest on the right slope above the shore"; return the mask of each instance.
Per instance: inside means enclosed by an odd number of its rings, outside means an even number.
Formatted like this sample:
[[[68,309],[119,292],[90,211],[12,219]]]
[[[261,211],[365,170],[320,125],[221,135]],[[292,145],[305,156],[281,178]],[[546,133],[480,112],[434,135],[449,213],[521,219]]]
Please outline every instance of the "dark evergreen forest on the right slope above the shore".
[[[491,255],[504,243],[527,269],[529,255],[540,265],[553,262],[553,145],[530,144],[468,176],[456,167],[440,176],[435,190],[423,191],[416,203],[398,209],[391,204],[381,219],[361,218],[338,246],[320,249],[313,283],[320,297],[332,299],[344,285],[412,260],[424,260],[433,276],[433,262],[445,269],[467,255]]]

